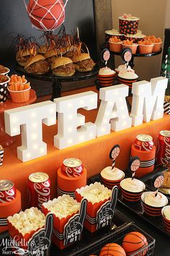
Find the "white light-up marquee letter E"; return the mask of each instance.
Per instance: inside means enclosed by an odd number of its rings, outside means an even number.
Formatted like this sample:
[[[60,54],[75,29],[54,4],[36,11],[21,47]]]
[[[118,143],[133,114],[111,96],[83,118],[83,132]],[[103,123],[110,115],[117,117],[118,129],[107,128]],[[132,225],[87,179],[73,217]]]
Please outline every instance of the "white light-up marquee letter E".
[[[85,123],[85,116],[77,114],[77,110],[97,108],[97,93],[89,91],[55,98],[54,102],[58,111],[58,135],[54,137],[56,148],[68,148],[96,137],[96,124]],[[81,128],[77,129],[79,126]]]

